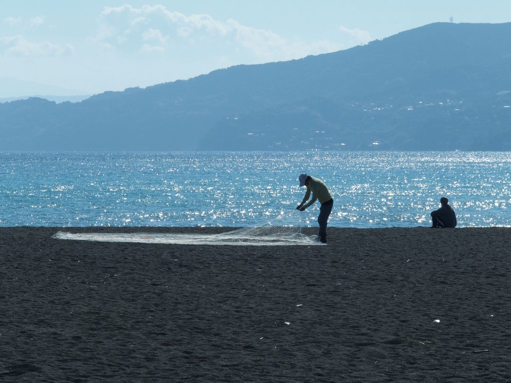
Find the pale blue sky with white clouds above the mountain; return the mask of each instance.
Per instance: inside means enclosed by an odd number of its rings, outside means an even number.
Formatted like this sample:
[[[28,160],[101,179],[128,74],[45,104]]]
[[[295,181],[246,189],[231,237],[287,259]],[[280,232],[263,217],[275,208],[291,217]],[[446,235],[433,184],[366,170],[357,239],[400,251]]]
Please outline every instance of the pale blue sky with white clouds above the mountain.
[[[0,98],[146,87],[344,50],[451,16],[509,22],[511,1],[2,0]]]

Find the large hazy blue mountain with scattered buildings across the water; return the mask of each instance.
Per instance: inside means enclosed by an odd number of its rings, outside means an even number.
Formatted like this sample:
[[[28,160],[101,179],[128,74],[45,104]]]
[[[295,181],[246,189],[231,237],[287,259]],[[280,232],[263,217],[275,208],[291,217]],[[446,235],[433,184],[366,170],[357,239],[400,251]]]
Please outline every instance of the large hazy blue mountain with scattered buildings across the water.
[[[511,150],[511,23],[434,23],[80,103],[0,104],[0,150]]]

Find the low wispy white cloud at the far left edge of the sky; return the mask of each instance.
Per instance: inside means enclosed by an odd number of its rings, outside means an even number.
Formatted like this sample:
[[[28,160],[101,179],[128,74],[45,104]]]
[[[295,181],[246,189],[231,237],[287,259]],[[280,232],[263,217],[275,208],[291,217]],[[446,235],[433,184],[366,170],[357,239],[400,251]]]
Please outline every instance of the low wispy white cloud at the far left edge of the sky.
[[[5,46],[5,52],[19,56],[56,56],[72,54],[72,45],[64,46],[49,41],[32,42],[21,35],[0,37],[0,43]]]

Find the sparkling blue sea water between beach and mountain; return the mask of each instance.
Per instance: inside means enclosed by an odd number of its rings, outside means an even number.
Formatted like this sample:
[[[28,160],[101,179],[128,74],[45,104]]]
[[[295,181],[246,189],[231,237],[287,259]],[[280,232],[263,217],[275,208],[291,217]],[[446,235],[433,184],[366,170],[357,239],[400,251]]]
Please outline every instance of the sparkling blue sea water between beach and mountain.
[[[511,226],[507,152],[0,153],[0,226],[317,226],[298,175],[322,179],[329,225]]]

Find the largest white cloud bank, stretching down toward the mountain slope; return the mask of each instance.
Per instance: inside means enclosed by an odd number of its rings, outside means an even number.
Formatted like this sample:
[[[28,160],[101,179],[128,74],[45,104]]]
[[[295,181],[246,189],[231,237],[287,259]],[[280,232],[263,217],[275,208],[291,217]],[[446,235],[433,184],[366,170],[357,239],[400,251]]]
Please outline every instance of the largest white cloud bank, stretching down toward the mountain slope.
[[[265,62],[341,49],[339,44],[328,41],[288,39],[233,19],[223,22],[206,14],[185,15],[162,5],[106,7],[99,20],[96,41],[105,47],[134,52],[164,52],[171,46],[188,44],[206,50],[216,47],[218,57],[224,56],[228,49],[244,52],[247,61]]]

